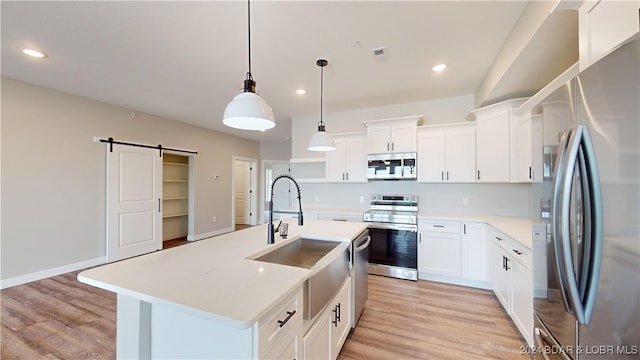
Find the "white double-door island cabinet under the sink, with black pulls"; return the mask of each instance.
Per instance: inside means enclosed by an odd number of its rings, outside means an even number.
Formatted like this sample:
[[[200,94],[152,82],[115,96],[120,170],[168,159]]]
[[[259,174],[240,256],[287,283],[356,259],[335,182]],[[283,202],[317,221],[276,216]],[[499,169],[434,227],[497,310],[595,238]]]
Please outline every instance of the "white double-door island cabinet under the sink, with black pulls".
[[[351,330],[351,277],[302,338],[304,359],[336,359]]]

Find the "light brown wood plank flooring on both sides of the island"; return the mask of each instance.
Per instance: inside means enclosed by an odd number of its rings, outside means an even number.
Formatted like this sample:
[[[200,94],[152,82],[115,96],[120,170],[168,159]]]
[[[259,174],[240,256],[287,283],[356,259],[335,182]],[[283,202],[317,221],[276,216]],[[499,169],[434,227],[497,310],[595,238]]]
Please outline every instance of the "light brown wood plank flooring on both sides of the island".
[[[2,290],[2,359],[114,359],[116,296],[72,272]],[[369,276],[339,359],[523,359],[489,291]]]

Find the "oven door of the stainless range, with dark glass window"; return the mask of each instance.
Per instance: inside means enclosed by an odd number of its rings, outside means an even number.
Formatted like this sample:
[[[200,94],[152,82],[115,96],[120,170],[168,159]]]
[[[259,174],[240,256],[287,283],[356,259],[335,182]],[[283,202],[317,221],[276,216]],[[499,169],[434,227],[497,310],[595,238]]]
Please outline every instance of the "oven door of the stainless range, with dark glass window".
[[[417,280],[417,230],[415,225],[370,224],[369,273]]]

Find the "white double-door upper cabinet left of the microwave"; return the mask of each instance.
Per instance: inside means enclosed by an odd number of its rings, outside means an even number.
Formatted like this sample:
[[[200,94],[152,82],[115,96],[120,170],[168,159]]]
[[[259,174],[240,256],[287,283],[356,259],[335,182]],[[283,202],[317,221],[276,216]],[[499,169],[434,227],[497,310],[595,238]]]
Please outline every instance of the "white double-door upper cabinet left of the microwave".
[[[364,133],[333,135],[334,151],[326,153],[327,181],[367,182],[367,137]]]

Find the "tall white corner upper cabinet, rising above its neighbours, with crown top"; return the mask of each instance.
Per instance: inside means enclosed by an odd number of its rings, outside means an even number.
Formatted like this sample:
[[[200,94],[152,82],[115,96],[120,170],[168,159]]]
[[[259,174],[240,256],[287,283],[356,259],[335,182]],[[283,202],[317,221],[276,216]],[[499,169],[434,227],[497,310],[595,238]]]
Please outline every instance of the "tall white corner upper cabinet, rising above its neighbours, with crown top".
[[[513,99],[472,111],[476,117],[476,180],[511,181],[511,112],[526,99]]]

